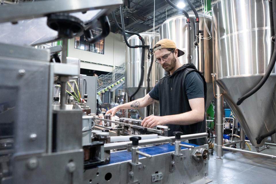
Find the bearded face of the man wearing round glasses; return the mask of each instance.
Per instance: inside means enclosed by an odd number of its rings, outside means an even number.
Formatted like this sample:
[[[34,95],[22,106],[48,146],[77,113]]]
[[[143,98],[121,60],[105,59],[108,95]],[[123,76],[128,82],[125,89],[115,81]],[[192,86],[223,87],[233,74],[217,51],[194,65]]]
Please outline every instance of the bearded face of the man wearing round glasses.
[[[170,72],[175,68],[176,65],[176,57],[177,57],[177,49],[170,52],[167,49],[159,49],[154,52],[156,59],[161,59],[161,66],[164,68],[166,72]],[[168,57],[168,61],[164,61],[162,58]]]

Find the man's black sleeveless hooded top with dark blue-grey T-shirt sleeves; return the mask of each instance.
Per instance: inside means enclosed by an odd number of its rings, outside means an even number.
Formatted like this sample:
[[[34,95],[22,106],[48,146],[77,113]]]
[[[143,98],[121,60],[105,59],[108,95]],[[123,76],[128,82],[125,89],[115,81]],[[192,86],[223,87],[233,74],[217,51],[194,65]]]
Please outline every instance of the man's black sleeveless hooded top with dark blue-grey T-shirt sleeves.
[[[166,73],[149,95],[159,101],[160,116],[181,114],[191,111],[189,99],[203,97],[206,106],[206,82],[194,64],[185,64],[172,75]],[[167,126],[170,128],[168,136],[173,136],[175,131],[181,131],[184,135],[206,132],[205,116],[202,122],[190,125],[167,124]],[[206,138],[191,139],[189,143],[203,145],[207,140]]]

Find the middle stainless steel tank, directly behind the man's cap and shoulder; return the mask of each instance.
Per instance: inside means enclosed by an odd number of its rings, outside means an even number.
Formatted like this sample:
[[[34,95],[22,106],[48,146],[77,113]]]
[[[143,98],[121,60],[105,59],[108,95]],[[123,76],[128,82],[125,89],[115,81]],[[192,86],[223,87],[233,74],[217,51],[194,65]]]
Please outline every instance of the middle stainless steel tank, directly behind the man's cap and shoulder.
[[[191,62],[201,71],[201,62],[198,62],[198,57],[201,58],[201,47],[199,43],[199,52],[197,50],[197,46],[194,45],[194,41],[196,38],[196,24],[195,24],[195,15],[193,13],[189,13],[190,16],[190,43],[191,43]],[[207,29],[204,23],[204,19],[206,25],[209,30],[211,30],[211,16],[206,14],[198,14],[199,16],[199,29],[204,30],[204,37],[209,37],[207,33]],[[159,28],[160,39],[171,39],[175,42],[177,48],[183,50],[185,54],[179,57],[179,62],[181,64],[187,64],[187,23],[186,23],[186,16],[184,14],[180,14],[177,16],[173,16],[166,20],[162,26]],[[212,85],[212,76],[213,73],[213,50],[212,50],[212,39],[204,39],[204,77],[207,82],[207,101],[206,101],[206,108],[212,102],[214,95],[213,95],[213,85]]]

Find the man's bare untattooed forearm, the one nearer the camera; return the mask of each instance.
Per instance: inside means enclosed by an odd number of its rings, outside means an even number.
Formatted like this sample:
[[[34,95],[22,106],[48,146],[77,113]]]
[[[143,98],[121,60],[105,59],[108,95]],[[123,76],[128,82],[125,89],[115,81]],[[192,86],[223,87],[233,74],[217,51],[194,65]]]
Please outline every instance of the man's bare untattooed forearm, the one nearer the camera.
[[[178,124],[178,125],[189,125],[204,120],[204,114],[198,113],[196,110],[191,110],[182,114],[175,114],[164,116],[166,124]]]

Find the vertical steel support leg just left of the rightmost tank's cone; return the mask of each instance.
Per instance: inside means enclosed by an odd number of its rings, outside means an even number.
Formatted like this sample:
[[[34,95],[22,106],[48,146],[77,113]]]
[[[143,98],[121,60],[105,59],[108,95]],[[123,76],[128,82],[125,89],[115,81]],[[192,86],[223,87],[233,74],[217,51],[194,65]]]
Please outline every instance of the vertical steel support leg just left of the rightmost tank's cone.
[[[221,94],[221,89],[216,84],[216,94]],[[223,101],[222,98],[216,98],[216,156],[221,158],[223,156]]]

